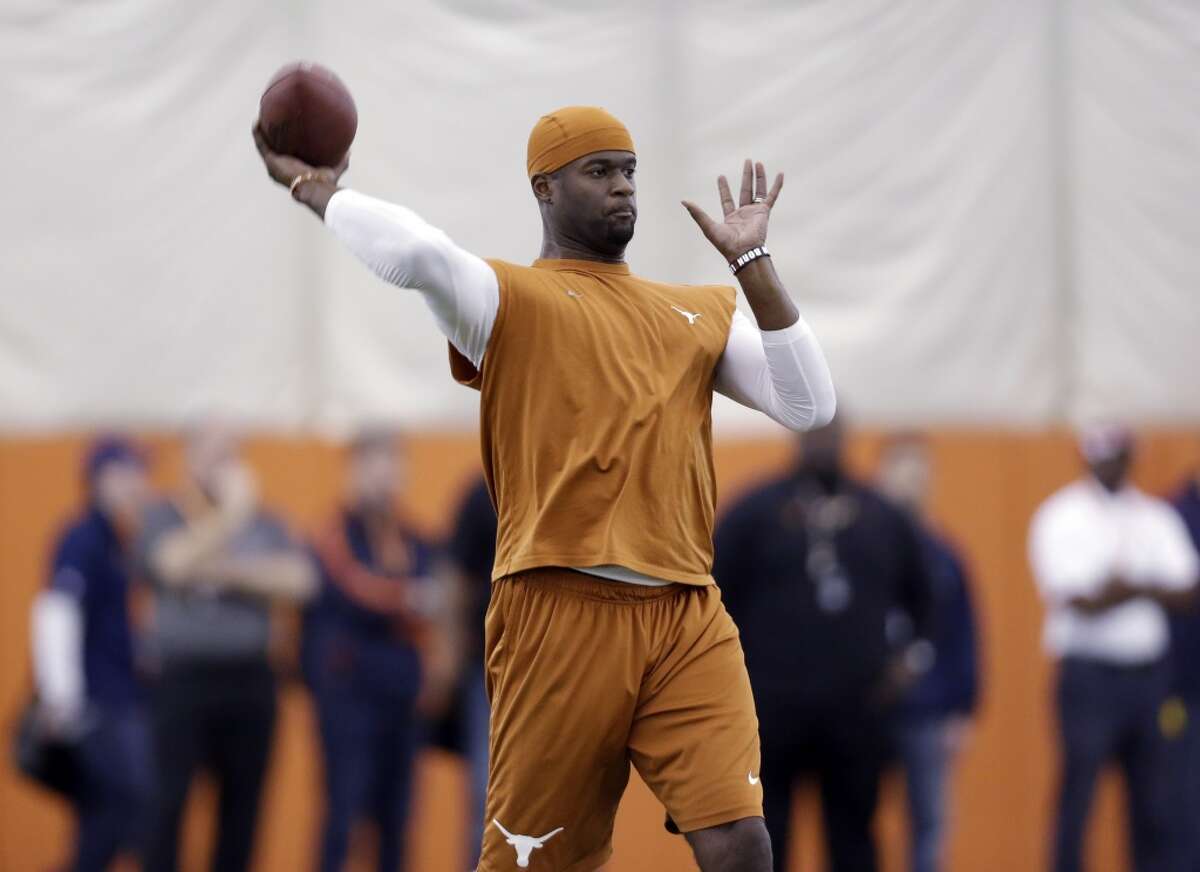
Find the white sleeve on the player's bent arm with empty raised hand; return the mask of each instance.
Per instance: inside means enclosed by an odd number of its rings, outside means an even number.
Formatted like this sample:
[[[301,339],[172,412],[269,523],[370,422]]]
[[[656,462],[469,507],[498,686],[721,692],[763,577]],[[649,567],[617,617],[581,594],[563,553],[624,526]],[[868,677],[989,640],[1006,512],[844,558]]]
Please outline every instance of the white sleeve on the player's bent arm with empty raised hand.
[[[716,390],[794,431],[823,427],[838,408],[829,366],[803,318],[760,332],[734,312],[716,367]]]

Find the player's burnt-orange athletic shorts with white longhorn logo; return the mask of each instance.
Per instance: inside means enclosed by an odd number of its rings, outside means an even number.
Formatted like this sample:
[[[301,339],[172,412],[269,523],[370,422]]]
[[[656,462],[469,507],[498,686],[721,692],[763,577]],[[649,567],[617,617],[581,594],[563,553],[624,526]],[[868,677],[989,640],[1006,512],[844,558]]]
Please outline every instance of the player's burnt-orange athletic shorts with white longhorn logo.
[[[594,872],[637,766],[683,832],[762,816],[758,718],[715,587],[540,569],[487,612],[492,700],[479,872]]]

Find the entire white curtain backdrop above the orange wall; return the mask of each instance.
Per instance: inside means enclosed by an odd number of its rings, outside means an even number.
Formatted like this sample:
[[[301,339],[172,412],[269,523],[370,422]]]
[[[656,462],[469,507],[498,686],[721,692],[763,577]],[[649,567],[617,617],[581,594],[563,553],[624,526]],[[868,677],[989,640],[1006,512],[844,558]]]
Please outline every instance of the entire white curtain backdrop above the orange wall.
[[[1188,0],[7,0],[0,427],[473,426],[419,299],[260,168],[296,58],[354,92],[347,184],[482,255],[536,255],[558,106],[632,130],[648,277],[730,281],[679,200],[784,170],[769,245],[859,420],[1200,421],[1198,48]]]

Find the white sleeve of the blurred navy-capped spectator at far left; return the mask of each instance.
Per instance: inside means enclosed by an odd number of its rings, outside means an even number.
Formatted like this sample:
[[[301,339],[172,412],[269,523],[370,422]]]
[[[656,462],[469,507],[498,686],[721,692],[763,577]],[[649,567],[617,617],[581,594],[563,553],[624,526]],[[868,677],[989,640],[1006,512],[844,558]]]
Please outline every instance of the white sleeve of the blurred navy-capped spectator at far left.
[[[85,688],[79,601],[59,590],[44,590],[34,600],[31,619],[38,697],[59,710],[82,710]]]

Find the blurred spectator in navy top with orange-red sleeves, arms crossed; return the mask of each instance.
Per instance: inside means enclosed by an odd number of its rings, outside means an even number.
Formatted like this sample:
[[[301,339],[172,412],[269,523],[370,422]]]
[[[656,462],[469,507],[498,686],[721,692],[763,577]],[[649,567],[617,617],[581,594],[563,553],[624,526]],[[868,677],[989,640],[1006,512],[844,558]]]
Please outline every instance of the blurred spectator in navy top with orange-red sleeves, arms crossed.
[[[305,672],[325,762],[320,870],[346,861],[354,825],[378,831],[377,867],[403,868],[420,726],[419,644],[437,582],[430,546],[398,510],[403,464],[392,434],[349,450],[347,504],[317,540],[323,584],[305,619]]]

